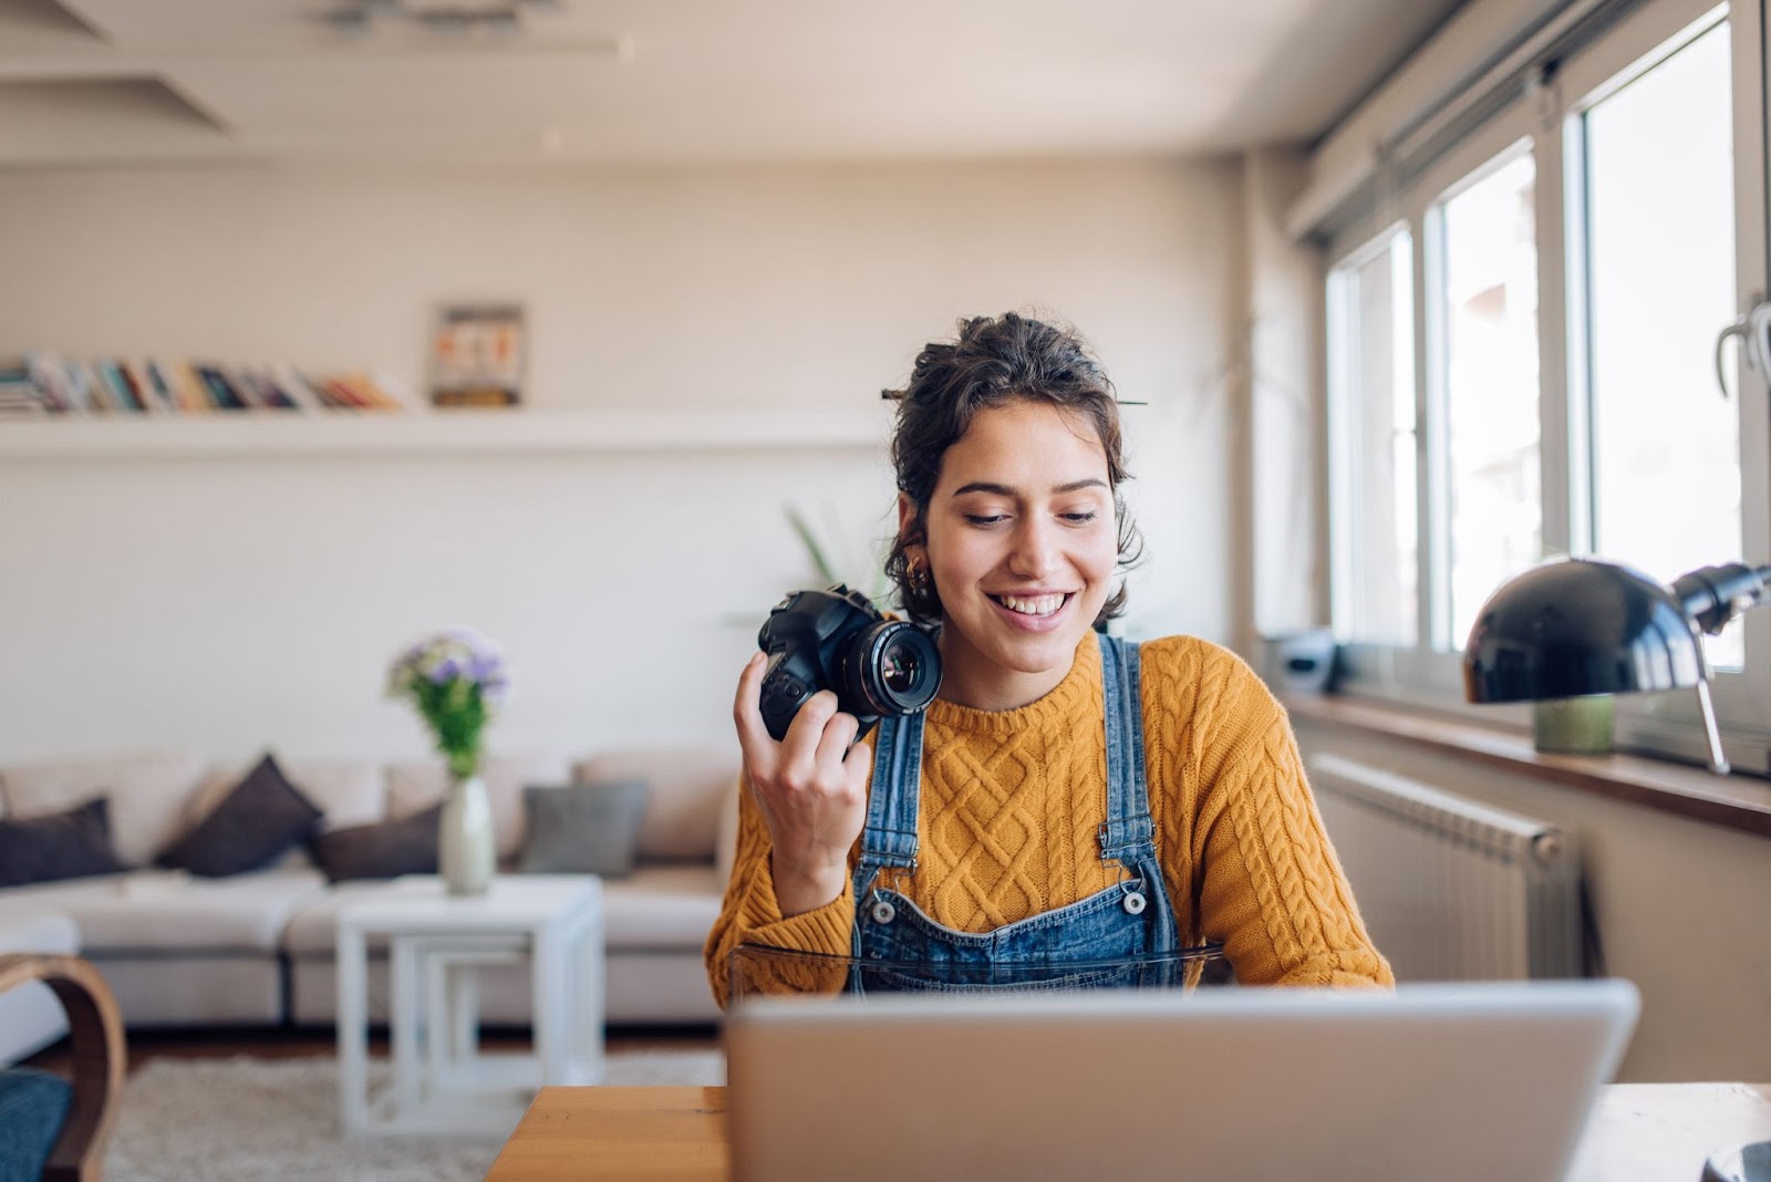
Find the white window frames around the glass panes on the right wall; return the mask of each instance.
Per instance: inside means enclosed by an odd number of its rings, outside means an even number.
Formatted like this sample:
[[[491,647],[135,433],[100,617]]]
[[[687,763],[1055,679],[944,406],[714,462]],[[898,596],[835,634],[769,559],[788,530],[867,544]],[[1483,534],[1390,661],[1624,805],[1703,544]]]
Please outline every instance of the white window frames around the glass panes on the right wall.
[[[1511,101],[1496,104],[1433,157],[1410,165],[1383,161],[1378,198],[1360,216],[1342,221],[1323,255],[1325,292],[1337,274],[1387,244],[1397,228],[1413,242],[1415,301],[1415,442],[1417,442],[1417,619],[1413,646],[1350,641],[1342,646],[1342,687],[1353,694],[1406,699],[1429,710],[1459,713],[1481,722],[1528,725],[1530,706],[1468,706],[1463,699],[1463,637],[1449,637],[1449,446],[1443,288],[1443,202],[1500,168],[1518,152],[1535,161],[1537,242],[1537,349],[1543,552],[1590,554],[1592,465],[1587,414],[1587,258],[1585,258],[1585,113],[1615,90],[1667,60],[1714,27],[1716,0],[1651,0],[1629,11],[1590,44],[1544,69]],[[1750,308],[1771,292],[1767,264],[1767,196],[1764,182],[1766,111],[1757,97],[1771,74],[1764,46],[1766,0],[1727,5],[1721,16],[1732,46],[1734,96],[1734,230],[1736,304]],[[1721,331],[1721,324],[1716,331]],[[1573,329],[1573,331],[1571,331]],[[1326,336],[1337,329],[1328,310]],[[1771,389],[1766,377],[1734,361],[1734,391],[1741,430],[1743,554],[1713,561],[1771,563]],[[1328,380],[1335,380],[1330,359]],[[1344,398],[1325,391],[1326,405]],[[1718,396],[1693,391],[1693,396]],[[1344,414],[1342,411],[1337,411]],[[1330,430],[1334,430],[1330,426]],[[1328,439],[1328,469],[1335,469],[1335,439]],[[1328,520],[1339,520],[1346,488],[1330,483]],[[1342,618],[1334,598],[1350,577],[1339,568],[1344,549],[1330,533],[1332,618]],[[1628,561],[1629,556],[1608,556]],[[1730,761],[1741,770],[1771,768],[1771,610],[1748,612],[1746,667],[1713,678],[1718,718]],[[1695,694],[1622,695],[1617,702],[1619,747],[1702,761],[1705,745]]]

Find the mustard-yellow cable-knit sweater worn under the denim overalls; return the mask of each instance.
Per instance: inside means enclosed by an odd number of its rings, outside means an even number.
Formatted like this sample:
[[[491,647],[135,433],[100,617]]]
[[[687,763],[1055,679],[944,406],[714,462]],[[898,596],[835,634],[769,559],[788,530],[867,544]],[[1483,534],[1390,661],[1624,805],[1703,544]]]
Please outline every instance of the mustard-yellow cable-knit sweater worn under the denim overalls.
[[[1197,637],[1139,649],[1156,856],[1183,943],[1222,940],[1241,984],[1390,986],[1323,833],[1284,708],[1236,655]],[[855,899],[783,917],[769,828],[740,786],[731,881],[707,940],[726,1003],[740,943],[848,956]],[[1119,879],[1100,858],[1107,819],[1100,644],[1018,710],[935,699],[923,738],[917,869],[893,881],[937,922],[985,933]],[[850,865],[859,844],[850,853]]]

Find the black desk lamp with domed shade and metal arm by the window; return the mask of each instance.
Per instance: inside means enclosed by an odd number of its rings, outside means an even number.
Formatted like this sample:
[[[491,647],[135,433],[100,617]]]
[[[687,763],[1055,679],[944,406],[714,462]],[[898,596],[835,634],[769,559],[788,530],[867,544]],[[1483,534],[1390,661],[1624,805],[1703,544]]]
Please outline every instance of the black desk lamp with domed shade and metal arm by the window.
[[[1465,697],[1535,702],[1695,688],[1709,768],[1725,775],[1700,632],[1714,635],[1767,598],[1771,566],[1705,566],[1668,587],[1617,563],[1553,559],[1488,596],[1463,648]],[[1713,1154],[1700,1182],[1771,1182],[1771,1141]]]

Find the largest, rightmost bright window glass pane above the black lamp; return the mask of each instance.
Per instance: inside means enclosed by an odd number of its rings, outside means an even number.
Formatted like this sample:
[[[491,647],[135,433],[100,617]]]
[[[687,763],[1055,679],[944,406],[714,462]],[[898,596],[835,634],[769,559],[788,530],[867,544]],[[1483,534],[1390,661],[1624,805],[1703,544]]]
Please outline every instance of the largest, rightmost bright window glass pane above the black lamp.
[[[1741,557],[1728,55],[1723,23],[1583,120],[1594,550],[1663,580]],[[1743,662],[1739,621],[1709,644]]]

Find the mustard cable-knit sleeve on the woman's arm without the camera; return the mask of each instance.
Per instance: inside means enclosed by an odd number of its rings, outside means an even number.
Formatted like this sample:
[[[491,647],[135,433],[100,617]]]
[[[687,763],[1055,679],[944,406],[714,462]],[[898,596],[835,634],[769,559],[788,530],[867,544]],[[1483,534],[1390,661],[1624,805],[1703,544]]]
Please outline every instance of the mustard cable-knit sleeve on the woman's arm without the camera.
[[[1199,925],[1243,984],[1394,986],[1323,830],[1284,708],[1233,653],[1197,642],[1185,828]],[[1192,662],[1188,662],[1192,664]],[[1174,720],[1179,724],[1179,718]],[[1179,833],[1176,833],[1179,835]]]

